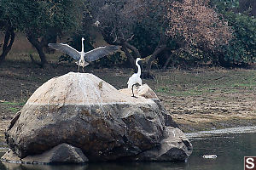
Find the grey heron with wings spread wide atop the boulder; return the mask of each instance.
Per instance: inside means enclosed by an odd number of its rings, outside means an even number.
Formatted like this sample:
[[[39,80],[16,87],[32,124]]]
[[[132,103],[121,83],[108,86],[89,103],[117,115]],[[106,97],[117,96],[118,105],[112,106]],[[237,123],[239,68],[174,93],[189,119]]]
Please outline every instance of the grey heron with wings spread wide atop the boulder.
[[[96,59],[100,59],[108,54],[113,54],[113,52],[119,50],[119,46],[106,46],[106,47],[99,47],[93,50],[90,50],[84,53],[84,37],[82,37],[82,51],[79,52],[75,48],[65,44],[65,43],[49,43],[49,48],[53,48],[56,50],[60,50],[62,53],[69,55],[73,59],[79,60],[76,62],[77,65],[83,67],[89,65],[90,62],[95,61]],[[79,70],[78,70],[79,72]]]

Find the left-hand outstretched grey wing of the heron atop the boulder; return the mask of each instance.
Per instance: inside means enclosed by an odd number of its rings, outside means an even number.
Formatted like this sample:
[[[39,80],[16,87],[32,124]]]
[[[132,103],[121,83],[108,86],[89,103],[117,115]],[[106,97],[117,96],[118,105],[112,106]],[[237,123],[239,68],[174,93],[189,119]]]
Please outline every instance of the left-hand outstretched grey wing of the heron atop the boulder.
[[[53,48],[56,50],[60,50],[62,53],[69,55],[73,59],[80,59],[80,53],[75,48],[72,48],[71,46],[64,44],[64,43],[49,43],[49,48]]]

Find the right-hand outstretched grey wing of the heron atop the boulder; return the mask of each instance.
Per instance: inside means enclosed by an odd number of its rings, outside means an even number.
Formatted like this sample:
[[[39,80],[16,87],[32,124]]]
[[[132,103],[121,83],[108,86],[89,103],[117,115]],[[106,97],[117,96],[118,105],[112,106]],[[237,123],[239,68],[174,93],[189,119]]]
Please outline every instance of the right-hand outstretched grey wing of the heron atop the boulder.
[[[119,50],[119,46],[106,46],[106,47],[99,47],[95,48],[87,53],[84,54],[84,59],[88,62],[95,61],[96,59],[101,59],[102,57],[113,54],[115,51]]]

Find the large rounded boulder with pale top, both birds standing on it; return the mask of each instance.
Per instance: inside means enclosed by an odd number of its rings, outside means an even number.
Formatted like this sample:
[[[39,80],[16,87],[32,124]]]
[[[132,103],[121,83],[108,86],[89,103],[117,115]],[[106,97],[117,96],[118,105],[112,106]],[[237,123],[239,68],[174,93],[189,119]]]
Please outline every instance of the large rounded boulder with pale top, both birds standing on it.
[[[88,73],[70,72],[45,82],[5,134],[20,158],[63,143],[82,150],[89,161],[182,161],[192,152],[147,85],[133,98],[129,90],[119,91]]]

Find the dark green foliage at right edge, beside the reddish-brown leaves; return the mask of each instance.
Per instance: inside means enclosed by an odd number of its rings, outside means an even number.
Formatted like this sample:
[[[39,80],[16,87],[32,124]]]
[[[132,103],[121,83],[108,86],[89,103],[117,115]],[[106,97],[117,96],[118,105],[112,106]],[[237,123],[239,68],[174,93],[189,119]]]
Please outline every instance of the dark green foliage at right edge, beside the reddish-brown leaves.
[[[234,38],[228,46],[223,47],[221,55],[225,65],[244,65],[255,61],[256,56],[256,19],[245,13],[235,13],[239,8],[238,0],[212,1],[218,11],[228,20],[232,27]]]

